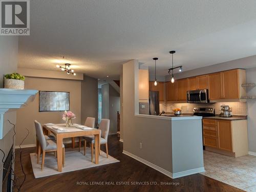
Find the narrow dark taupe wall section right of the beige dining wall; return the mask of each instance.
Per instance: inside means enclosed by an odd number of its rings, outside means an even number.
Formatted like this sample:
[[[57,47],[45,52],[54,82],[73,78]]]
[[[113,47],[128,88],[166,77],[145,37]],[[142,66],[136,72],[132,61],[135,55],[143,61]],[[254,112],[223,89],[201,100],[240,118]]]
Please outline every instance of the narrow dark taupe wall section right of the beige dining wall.
[[[83,75],[81,81],[81,124],[87,117],[95,118],[98,122],[98,79]]]

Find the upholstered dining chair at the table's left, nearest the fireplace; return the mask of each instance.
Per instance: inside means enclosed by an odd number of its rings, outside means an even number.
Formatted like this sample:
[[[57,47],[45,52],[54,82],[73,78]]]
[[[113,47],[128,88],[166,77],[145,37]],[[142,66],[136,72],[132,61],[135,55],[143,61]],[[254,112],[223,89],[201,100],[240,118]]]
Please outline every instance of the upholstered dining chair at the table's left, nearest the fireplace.
[[[37,151],[37,164],[39,164],[39,158],[41,155],[41,150],[42,150],[42,163],[41,163],[41,170],[44,169],[44,164],[45,164],[45,154],[47,152],[57,152],[57,144],[56,140],[46,140],[44,133],[42,133],[42,127],[39,122],[35,120],[35,131],[36,131],[36,137],[38,139],[38,151]],[[65,146],[62,143],[62,166],[64,167],[65,165]]]

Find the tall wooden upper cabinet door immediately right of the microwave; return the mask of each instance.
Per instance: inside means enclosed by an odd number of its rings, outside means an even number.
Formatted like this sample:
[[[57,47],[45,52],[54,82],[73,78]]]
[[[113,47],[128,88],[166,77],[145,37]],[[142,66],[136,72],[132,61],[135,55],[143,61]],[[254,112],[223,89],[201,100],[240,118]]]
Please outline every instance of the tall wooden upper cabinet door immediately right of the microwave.
[[[222,73],[211,73],[208,75],[209,99],[222,99]]]

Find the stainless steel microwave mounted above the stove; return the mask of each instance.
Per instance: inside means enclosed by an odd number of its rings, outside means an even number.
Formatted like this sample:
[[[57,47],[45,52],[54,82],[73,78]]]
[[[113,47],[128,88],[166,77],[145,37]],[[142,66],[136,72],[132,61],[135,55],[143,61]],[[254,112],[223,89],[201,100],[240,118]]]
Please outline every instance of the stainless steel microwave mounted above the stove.
[[[187,91],[187,102],[188,103],[208,103],[208,90],[191,90]]]

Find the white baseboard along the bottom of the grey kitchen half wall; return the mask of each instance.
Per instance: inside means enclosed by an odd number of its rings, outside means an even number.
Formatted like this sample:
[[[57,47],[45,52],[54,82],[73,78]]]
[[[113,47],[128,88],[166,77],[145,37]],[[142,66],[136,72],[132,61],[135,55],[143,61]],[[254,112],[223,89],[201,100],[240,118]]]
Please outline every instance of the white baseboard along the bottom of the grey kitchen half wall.
[[[151,162],[148,162],[146,161],[145,159],[142,159],[136,155],[133,155],[127,151],[124,151],[123,150],[123,154],[127,155],[127,156],[130,156],[132,157],[133,159],[136,159],[137,161],[147,165],[147,166],[150,166],[151,168],[154,168],[156,170],[158,170],[160,173],[172,178],[172,179],[176,179],[176,178],[179,178],[179,177],[184,177],[184,176],[188,176],[188,175],[193,175],[193,174],[198,174],[198,173],[202,173],[202,172],[205,172],[205,169],[204,167],[199,167],[199,168],[194,168],[194,169],[189,169],[189,170],[185,170],[184,172],[179,172],[179,173],[170,173],[168,172],[168,170],[165,170]]]

